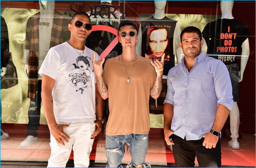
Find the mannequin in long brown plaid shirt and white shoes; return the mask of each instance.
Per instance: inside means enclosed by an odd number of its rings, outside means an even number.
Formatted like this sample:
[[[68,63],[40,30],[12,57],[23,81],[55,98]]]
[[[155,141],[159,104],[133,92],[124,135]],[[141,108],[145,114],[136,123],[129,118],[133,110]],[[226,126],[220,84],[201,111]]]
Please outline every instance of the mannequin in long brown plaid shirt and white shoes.
[[[28,109],[28,137],[20,143],[21,147],[29,146],[37,141],[36,131],[40,125],[42,101],[42,77],[38,74],[38,69],[52,46],[61,44],[70,38],[68,30],[70,20],[54,10],[55,2],[39,1],[39,6],[40,12],[28,20],[24,45],[24,72],[29,81],[30,106]],[[35,27],[38,34],[34,33]]]

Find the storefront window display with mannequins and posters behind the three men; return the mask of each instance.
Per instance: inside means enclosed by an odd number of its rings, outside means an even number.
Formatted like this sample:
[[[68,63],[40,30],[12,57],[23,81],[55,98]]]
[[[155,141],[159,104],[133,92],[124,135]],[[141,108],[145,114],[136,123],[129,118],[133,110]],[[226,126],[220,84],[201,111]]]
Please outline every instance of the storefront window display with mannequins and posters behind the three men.
[[[240,150],[228,146],[233,128],[233,120],[228,117],[222,129],[222,165],[255,167],[255,1],[232,3],[230,7],[221,1],[1,1],[1,67],[4,52],[9,57],[1,71],[6,71],[3,76],[1,73],[1,133],[7,137],[1,135],[1,161],[49,159],[50,131],[41,102],[42,77],[38,69],[52,46],[68,41],[72,16],[83,11],[92,23],[92,33],[84,44],[101,60],[122,53],[117,28],[124,19],[139,29],[137,54],[157,60],[165,53],[163,91],[158,99],[149,99],[151,129],[146,162],[175,165],[163,133],[167,74],[184,56],[179,46],[180,32],[195,26],[205,41],[202,51],[224,62],[229,73],[239,80],[232,85],[232,111],[236,118],[240,117],[236,128]],[[50,14],[43,13],[45,9]],[[103,102],[103,112],[107,121],[108,100]],[[94,140],[91,163],[107,161],[105,126]],[[239,152],[254,157],[243,163],[234,161],[238,157],[229,157]],[[73,151],[69,159],[72,162]],[[127,148],[123,163],[130,163],[130,159]]]

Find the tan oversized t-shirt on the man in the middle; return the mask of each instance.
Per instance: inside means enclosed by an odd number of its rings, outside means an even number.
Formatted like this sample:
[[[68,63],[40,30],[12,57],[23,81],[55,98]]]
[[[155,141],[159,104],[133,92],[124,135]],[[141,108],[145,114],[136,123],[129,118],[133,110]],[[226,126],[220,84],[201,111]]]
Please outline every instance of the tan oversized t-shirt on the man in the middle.
[[[108,86],[109,117],[106,134],[148,134],[149,120],[149,96],[150,89],[156,80],[155,67],[150,59],[138,56],[132,68],[131,63],[124,63],[127,75],[124,71],[119,56],[106,61],[102,73],[103,81]]]

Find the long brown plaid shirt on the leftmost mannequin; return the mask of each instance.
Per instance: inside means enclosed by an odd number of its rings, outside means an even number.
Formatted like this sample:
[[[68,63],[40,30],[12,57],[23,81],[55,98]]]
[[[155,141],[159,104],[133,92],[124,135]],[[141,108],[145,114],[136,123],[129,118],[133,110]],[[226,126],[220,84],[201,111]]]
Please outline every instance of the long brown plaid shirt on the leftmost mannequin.
[[[40,12],[28,19],[24,45],[24,49],[30,51],[28,63],[28,97],[32,99],[35,99],[38,78],[39,19]],[[68,30],[69,23],[70,20],[67,17],[56,10],[54,11],[50,48],[68,41],[70,38],[70,32]]]

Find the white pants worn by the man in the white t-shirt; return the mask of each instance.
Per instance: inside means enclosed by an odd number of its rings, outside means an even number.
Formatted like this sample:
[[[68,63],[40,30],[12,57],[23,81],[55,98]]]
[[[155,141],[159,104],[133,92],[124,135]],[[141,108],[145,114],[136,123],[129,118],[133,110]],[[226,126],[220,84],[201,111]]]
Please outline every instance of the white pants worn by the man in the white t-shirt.
[[[95,123],[88,122],[59,122],[58,124],[68,124],[64,132],[70,137],[69,143],[64,142],[65,146],[56,142],[51,135],[51,156],[47,167],[66,167],[72,147],[74,151],[75,167],[88,167],[90,164],[90,153],[92,151],[91,139],[95,131]]]

